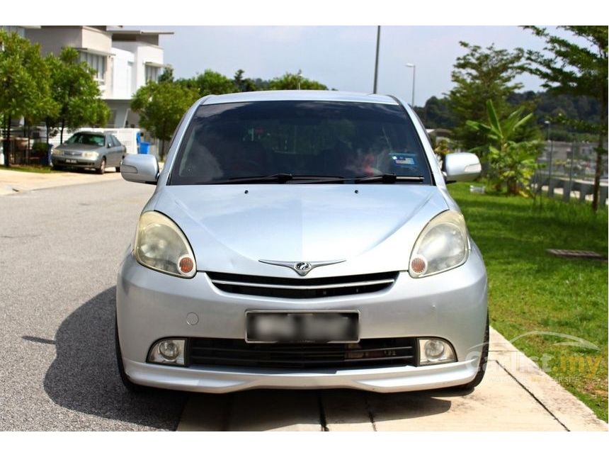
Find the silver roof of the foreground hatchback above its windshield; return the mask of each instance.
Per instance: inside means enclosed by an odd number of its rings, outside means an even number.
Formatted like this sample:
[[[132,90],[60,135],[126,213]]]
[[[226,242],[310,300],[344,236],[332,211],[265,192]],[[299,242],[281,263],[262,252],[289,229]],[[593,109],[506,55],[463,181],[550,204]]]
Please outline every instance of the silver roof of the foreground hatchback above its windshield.
[[[218,103],[243,103],[248,101],[351,101],[360,103],[385,103],[397,105],[394,98],[381,94],[363,94],[344,91],[255,91],[236,94],[211,95],[200,100],[201,105]]]

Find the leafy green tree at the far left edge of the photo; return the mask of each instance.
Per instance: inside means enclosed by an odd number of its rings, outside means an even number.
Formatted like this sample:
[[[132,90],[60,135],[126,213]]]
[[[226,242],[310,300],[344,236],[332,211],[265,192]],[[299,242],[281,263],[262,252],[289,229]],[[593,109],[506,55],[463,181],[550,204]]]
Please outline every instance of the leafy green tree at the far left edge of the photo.
[[[6,132],[4,164],[9,167],[12,120],[23,116],[26,122],[35,122],[53,106],[40,45],[0,30],[0,46],[0,115]]]

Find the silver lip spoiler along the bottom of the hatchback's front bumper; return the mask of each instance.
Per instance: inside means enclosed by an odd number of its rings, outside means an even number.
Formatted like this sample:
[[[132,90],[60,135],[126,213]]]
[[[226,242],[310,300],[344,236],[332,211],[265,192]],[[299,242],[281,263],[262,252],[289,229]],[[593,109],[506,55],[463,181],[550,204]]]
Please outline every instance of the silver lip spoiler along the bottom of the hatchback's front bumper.
[[[447,388],[467,384],[478,370],[478,359],[435,366],[322,369],[183,368],[123,359],[125,373],[133,383],[154,388],[201,393],[229,393],[255,388],[323,389],[354,388],[391,393]]]

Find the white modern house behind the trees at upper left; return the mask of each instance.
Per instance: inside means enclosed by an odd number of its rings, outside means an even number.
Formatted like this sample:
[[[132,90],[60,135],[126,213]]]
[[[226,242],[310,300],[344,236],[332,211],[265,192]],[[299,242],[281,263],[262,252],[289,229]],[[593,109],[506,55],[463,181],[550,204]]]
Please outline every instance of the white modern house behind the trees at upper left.
[[[173,35],[108,26],[41,26],[23,33],[40,43],[43,55],[59,55],[68,46],[79,51],[81,60],[96,70],[101,96],[112,112],[110,128],[137,125],[139,117],[129,108],[131,97],[147,81],[159,78],[166,67],[159,36]]]

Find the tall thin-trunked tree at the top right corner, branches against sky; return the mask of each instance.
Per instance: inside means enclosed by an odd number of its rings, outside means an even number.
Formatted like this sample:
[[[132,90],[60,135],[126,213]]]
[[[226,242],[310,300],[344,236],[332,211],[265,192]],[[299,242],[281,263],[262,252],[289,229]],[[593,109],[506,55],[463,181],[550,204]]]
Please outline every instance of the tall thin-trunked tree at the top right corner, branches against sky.
[[[593,187],[593,210],[598,209],[600,200],[600,183],[603,175],[603,156],[607,154],[604,147],[607,137],[607,104],[608,104],[608,58],[607,26],[562,26],[573,38],[585,40],[581,45],[551,35],[545,28],[525,27],[545,40],[545,53],[526,52],[529,64],[528,72],[545,80],[543,86],[554,94],[571,94],[596,98],[600,105],[598,120],[594,124],[578,123],[579,128],[596,132],[596,173]]]

